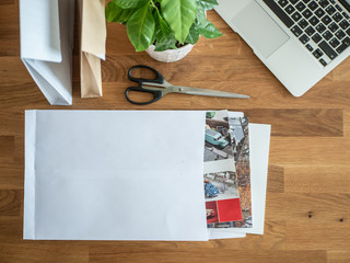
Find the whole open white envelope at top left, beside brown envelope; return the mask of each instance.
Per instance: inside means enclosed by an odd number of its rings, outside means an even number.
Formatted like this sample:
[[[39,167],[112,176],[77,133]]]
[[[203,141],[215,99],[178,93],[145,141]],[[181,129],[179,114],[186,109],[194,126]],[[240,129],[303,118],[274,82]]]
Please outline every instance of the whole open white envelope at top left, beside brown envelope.
[[[74,3],[20,0],[21,58],[52,105],[72,104]]]

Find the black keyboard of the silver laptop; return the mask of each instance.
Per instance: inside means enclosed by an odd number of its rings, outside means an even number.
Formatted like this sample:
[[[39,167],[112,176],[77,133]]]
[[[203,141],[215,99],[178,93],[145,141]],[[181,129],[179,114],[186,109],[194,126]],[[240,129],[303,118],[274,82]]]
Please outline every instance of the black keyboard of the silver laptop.
[[[350,46],[350,16],[335,0],[262,0],[326,67]]]

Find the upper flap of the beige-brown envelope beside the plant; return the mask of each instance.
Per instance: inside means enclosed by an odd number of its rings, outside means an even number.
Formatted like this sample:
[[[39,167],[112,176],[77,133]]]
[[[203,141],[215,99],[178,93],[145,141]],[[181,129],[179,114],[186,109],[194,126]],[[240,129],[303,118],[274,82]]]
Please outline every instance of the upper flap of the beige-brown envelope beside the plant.
[[[105,0],[81,0],[81,50],[104,59],[105,44]]]

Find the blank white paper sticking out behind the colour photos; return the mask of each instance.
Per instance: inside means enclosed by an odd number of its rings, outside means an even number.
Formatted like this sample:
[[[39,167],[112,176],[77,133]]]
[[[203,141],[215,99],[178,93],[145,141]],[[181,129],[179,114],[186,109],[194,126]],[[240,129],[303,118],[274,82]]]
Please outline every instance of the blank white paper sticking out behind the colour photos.
[[[241,233],[264,235],[270,133],[270,125],[249,124],[253,228],[213,229],[215,238],[236,238]]]

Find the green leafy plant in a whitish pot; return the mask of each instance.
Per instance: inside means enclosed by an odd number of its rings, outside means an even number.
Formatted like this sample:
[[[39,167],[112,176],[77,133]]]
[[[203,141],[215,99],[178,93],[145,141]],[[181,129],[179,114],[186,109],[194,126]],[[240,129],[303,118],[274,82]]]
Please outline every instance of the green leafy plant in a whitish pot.
[[[222,35],[206,15],[217,4],[217,0],[112,0],[106,20],[127,26],[137,52],[172,62],[185,57],[200,35]]]

